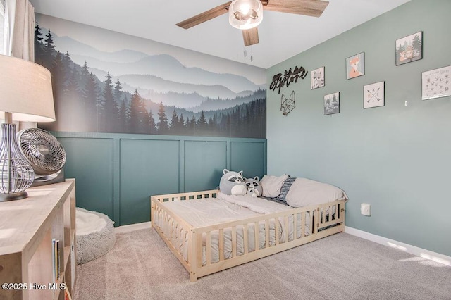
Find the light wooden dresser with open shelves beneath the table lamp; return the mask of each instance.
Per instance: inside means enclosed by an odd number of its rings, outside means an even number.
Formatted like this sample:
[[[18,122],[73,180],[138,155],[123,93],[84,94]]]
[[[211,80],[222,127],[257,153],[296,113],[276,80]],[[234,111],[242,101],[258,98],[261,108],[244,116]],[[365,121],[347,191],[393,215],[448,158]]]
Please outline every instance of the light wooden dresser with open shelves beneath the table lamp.
[[[75,180],[27,192],[0,202],[0,300],[64,299],[76,279]]]

